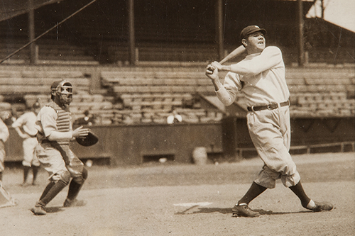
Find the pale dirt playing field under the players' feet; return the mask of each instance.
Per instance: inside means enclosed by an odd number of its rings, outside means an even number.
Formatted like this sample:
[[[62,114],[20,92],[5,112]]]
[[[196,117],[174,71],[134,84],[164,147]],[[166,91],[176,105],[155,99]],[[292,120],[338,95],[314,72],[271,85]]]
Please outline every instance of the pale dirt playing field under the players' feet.
[[[18,206],[0,208],[0,235],[354,235],[355,154],[294,156],[307,194],[330,201],[331,212],[312,213],[278,182],[251,203],[258,218],[233,218],[231,207],[249,189],[262,163],[147,164],[115,168],[93,166],[79,198],[80,208],[62,208],[67,188],[48,206],[48,214],[29,210],[43,191],[18,186],[20,169],[6,169],[4,186]]]

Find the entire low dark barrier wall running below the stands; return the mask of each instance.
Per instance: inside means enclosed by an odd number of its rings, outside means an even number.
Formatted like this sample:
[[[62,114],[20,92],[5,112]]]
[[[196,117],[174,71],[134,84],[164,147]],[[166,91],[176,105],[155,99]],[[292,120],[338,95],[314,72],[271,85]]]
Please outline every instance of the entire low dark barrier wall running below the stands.
[[[354,118],[293,118],[291,146],[355,141]],[[160,157],[191,163],[195,147],[215,154],[238,157],[239,148],[253,147],[245,118],[227,117],[222,123],[175,125],[94,126],[99,143],[82,147],[72,142],[81,159],[109,157],[112,166],[141,164]],[[13,128],[6,142],[6,161],[21,161],[22,140]],[[241,158],[241,157],[239,157]]]

